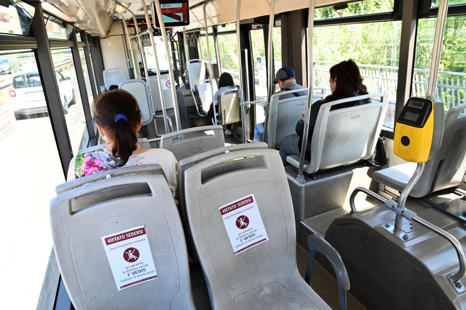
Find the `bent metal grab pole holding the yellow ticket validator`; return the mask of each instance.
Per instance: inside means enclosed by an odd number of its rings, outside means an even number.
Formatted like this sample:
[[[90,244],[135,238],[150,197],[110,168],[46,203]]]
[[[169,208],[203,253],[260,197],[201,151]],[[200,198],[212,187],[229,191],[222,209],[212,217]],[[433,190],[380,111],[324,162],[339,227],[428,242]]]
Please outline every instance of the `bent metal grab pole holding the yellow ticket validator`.
[[[429,74],[429,86],[427,88],[427,98],[431,99],[435,97],[437,89],[438,67],[440,65],[440,56],[442,55],[443,33],[445,32],[445,21],[447,19],[447,13],[448,0],[442,0],[438,8],[437,25],[435,26],[435,37],[433,39],[432,48],[431,72]],[[422,172],[424,171],[424,166],[425,163],[417,163],[416,171],[414,172],[413,176],[406,185],[406,188],[401,192],[401,195],[399,196],[398,207],[400,209],[404,208],[409,193],[411,193],[417,181],[420,179]],[[397,215],[395,218],[395,228],[393,229],[394,233],[401,232],[402,222],[403,218],[400,215]]]

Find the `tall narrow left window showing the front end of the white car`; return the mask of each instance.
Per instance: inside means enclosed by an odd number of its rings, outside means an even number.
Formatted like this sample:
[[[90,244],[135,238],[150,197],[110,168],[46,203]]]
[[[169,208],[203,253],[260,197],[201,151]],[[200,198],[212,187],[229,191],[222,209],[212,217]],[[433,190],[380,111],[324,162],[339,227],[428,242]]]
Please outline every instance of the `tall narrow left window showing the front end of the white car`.
[[[88,134],[71,49],[52,50],[58,88],[73,154],[87,147]]]

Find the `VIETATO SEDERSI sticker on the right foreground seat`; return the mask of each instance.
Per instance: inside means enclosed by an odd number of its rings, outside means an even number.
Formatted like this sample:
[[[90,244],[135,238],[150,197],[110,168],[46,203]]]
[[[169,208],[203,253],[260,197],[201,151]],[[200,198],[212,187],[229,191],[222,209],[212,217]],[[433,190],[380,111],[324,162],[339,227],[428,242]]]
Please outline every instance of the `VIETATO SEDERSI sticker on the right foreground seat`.
[[[254,194],[228,203],[219,210],[234,255],[268,240]]]

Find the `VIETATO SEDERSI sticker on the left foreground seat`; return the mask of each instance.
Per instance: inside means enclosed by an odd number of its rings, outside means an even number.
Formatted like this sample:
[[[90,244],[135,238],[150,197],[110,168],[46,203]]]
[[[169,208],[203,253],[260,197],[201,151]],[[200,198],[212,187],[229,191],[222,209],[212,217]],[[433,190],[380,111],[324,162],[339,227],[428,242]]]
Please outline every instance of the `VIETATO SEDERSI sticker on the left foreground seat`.
[[[102,237],[118,291],[157,278],[144,226]]]

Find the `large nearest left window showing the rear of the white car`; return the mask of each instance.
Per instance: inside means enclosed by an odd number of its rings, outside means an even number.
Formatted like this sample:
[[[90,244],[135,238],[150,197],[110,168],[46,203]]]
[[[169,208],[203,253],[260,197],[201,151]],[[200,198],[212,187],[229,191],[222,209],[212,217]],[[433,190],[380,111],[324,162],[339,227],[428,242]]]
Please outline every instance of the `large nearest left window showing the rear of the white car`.
[[[9,285],[1,305],[35,309],[52,246],[50,197],[65,179],[34,53],[0,53],[0,59],[11,68],[0,75],[1,223],[15,232],[3,239],[0,273]]]

